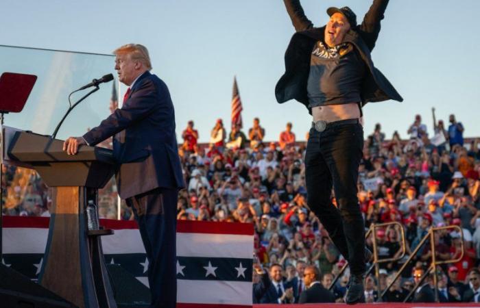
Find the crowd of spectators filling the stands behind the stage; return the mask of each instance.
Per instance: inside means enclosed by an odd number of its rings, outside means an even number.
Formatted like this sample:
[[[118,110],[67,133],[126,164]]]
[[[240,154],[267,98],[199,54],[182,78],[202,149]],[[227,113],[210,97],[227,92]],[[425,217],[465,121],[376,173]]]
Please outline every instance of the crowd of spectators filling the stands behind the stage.
[[[379,281],[372,276],[365,279],[368,302],[379,300],[378,290],[392,281],[430,228],[449,225],[457,225],[463,232],[435,232],[435,257],[455,259],[462,252],[463,257],[437,268],[440,300],[480,300],[480,151],[477,140],[464,144],[464,127],[454,115],[449,122],[447,129],[442,120],[435,122],[429,134],[417,115],[405,131],[409,135],[405,140],[398,132],[386,140],[380,124],[365,135],[358,181],[365,229],[382,222],[401,224],[376,229],[367,244],[372,249],[375,237],[379,258],[385,259],[400,255],[402,233],[406,242],[403,259],[381,264]],[[307,205],[303,164],[307,143],[296,141],[291,123],[274,142],[263,140],[265,128],[259,118],[247,132],[245,135],[242,127],[235,125],[227,133],[219,119],[210,142],[200,144],[199,132],[189,121],[179,140],[187,188],[179,192],[178,219],[254,224],[254,285],[265,281],[261,268],[271,282],[269,292],[254,294],[254,302],[296,303],[311,281],[320,281],[328,289],[346,261]],[[48,210],[51,201],[47,190],[34,172],[3,168],[6,185],[2,188],[9,214],[41,215]],[[19,175],[21,172],[31,172],[28,180],[25,174]],[[106,203],[115,202],[115,184],[110,186]],[[23,190],[25,194],[19,193]],[[34,201],[29,203],[31,198]],[[333,193],[332,202],[335,204]],[[115,216],[116,212],[109,214],[106,210],[104,217],[108,215]],[[121,218],[132,218],[128,208],[122,208]],[[430,247],[427,241],[382,300],[405,298],[430,266]],[[305,285],[305,268],[311,274],[309,285]],[[331,288],[334,300],[342,301],[347,282],[348,270]],[[413,298],[421,294],[422,301],[430,301],[433,279],[427,274],[422,283],[422,292],[416,292]]]

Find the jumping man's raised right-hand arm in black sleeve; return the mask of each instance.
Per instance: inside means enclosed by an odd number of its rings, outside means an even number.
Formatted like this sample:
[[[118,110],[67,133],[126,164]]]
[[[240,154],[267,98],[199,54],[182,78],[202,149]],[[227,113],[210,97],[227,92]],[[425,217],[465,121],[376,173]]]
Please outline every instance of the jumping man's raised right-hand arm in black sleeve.
[[[383,13],[387,9],[389,0],[374,0],[367,14],[363,17],[363,22],[359,27],[359,33],[368,49],[372,51],[375,47],[376,39],[379,38],[380,21],[383,19]]]

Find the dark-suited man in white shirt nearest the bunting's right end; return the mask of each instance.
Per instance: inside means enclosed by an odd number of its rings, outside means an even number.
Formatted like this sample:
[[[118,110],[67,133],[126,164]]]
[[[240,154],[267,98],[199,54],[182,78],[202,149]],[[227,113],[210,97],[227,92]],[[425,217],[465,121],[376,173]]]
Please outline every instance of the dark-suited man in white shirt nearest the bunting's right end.
[[[272,284],[260,299],[261,304],[287,304],[293,303],[293,288],[291,283],[283,281],[283,268],[280,264],[270,266],[270,279]]]

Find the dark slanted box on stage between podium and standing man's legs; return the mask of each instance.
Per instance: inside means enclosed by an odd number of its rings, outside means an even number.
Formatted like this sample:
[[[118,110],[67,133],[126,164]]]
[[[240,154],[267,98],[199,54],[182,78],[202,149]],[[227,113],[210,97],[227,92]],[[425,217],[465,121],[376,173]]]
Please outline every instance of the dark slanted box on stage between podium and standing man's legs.
[[[148,307],[150,290],[119,264],[107,264],[113,296],[119,308]]]

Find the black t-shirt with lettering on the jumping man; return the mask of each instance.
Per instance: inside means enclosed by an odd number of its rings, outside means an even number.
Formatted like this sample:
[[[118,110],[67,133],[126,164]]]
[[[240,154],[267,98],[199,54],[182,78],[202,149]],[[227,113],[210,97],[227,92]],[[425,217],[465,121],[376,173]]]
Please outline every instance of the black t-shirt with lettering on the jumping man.
[[[310,58],[309,107],[361,101],[365,62],[351,43],[328,48],[318,41]]]

